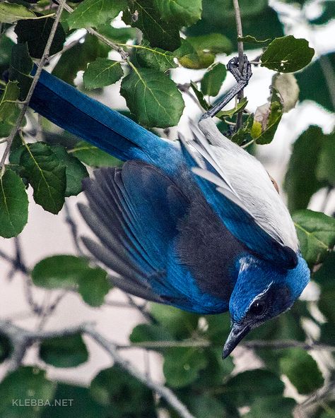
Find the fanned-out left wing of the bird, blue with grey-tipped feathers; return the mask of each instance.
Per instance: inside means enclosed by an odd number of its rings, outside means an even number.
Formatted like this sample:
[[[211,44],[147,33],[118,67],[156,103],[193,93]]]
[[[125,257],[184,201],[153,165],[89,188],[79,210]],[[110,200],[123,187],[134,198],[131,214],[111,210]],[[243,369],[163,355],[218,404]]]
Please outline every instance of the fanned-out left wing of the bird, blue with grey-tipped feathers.
[[[159,169],[133,160],[122,169],[95,170],[83,188],[88,206],[79,209],[100,243],[87,237],[83,242],[119,275],[114,284],[160,303],[182,299],[166,280],[177,221],[188,205],[177,186]]]

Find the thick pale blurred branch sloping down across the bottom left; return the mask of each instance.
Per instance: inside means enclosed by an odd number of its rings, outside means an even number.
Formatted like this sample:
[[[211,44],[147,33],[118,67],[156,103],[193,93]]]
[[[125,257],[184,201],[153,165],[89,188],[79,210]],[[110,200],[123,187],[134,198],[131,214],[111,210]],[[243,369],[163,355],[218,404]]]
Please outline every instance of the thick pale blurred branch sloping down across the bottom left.
[[[175,393],[161,383],[154,382],[146,374],[141,374],[132,364],[127,362],[119,352],[114,342],[107,340],[103,335],[95,330],[93,323],[82,323],[78,326],[63,328],[61,330],[45,331],[45,330],[26,330],[20,328],[10,321],[0,321],[0,333],[6,335],[13,345],[13,352],[8,360],[8,371],[16,369],[22,361],[26,350],[34,342],[45,340],[47,338],[64,337],[75,333],[85,333],[98,343],[105,351],[110,354],[114,362],[126,370],[131,376],[141,381],[148,388],[160,395],[170,407],[180,414],[182,418],[194,418],[187,410],[187,407],[180,402]]]

